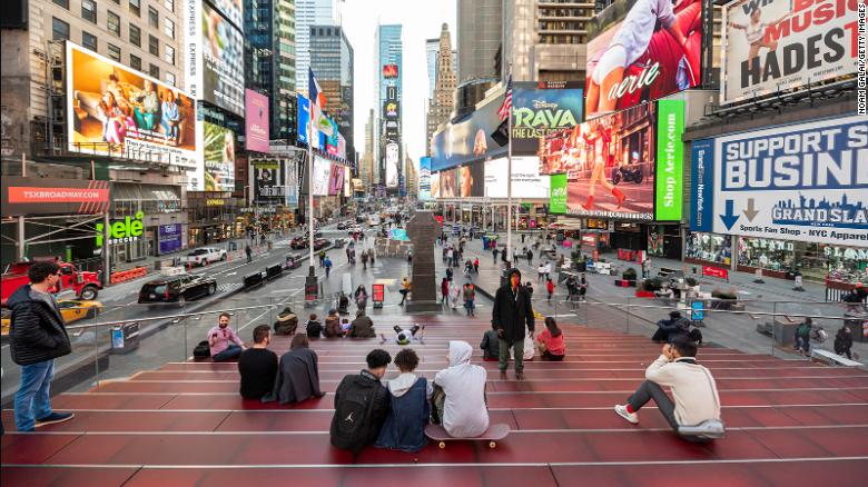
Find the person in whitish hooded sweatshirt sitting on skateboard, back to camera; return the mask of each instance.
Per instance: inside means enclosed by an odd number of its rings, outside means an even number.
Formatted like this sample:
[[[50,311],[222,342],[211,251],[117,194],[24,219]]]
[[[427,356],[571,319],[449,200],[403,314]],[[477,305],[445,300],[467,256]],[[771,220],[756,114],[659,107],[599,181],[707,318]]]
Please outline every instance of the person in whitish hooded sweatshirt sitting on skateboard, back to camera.
[[[489,429],[485,406],[485,369],[471,365],[473,347],[450,341],[450,367],[437,372],[434,384],[443,388],[443,429],[456,438],[472,438]]]

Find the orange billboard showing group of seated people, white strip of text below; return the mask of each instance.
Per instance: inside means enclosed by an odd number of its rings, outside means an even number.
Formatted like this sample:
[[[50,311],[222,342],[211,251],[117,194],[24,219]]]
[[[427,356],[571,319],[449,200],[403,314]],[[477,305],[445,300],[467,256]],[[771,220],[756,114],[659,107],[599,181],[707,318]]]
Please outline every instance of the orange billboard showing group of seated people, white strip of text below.
[[[184,91],[67,41],[72,152],[196,166],[196,102]]]

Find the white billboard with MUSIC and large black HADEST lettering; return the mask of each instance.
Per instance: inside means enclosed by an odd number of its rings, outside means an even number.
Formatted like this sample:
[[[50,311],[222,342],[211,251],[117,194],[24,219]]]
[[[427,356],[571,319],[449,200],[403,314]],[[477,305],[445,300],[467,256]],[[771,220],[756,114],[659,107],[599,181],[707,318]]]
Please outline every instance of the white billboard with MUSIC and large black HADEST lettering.
[[[722,22],[721,101],[798,89],[855,73],[857,3],[854,0],[729,3]]]

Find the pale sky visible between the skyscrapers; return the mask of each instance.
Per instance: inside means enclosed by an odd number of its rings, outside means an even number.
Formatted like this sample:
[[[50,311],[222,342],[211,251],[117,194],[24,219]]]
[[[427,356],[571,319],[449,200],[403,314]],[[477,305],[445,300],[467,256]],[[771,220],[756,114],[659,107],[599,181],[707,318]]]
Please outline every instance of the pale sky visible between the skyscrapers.
[[[338,3],[342,23],[355,58],[355,127],[359,157],[364,150],[365,123],[374,108],[374,34],[377,24],[404,26],[403,136],[407,156],[418,165],[425,155],[425,111],[428,93],[425,40],[440,37],[448,23],[455,46],[455,0],[346,0]]]

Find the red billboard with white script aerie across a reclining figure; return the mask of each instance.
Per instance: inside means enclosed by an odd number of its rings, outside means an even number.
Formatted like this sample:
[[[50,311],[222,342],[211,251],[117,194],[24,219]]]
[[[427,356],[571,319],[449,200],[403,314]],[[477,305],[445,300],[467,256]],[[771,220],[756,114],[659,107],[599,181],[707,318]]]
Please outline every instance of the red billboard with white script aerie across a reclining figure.
[[[588,23],[585,117],[700,83],[701,0],[615,0]]]

